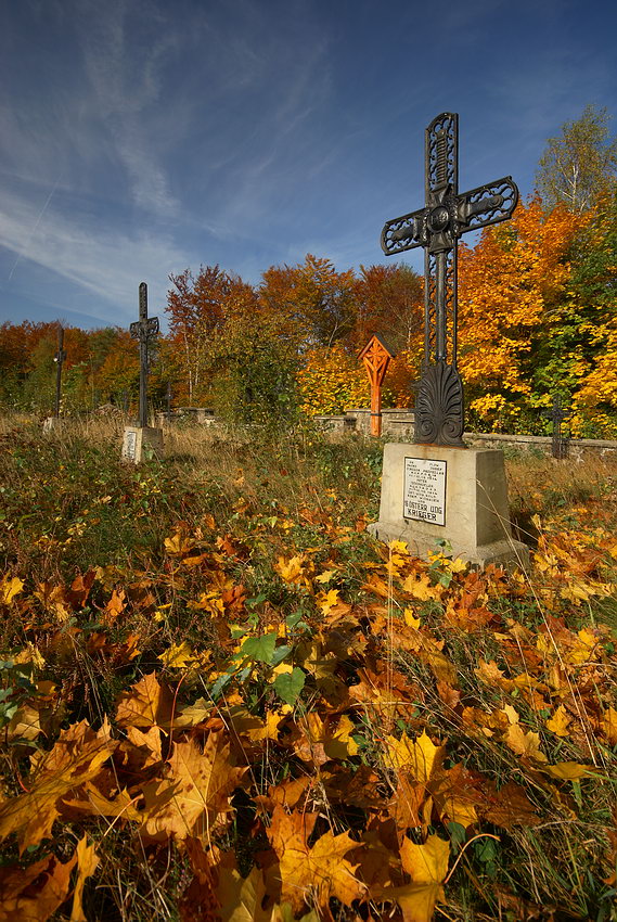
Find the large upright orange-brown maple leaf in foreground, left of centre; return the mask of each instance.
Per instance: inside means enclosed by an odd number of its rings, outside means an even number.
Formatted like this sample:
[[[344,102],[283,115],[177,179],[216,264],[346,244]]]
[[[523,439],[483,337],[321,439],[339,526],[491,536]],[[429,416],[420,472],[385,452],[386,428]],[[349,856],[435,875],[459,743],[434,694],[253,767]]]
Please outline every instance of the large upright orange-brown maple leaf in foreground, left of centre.
[[[231,794],[246,769],[231,764],[222,732],[210,733],[203,752],[194,740],[176,743],[164,779],[144,785],[142,834],[153,841],[207,836],[232,812]]]

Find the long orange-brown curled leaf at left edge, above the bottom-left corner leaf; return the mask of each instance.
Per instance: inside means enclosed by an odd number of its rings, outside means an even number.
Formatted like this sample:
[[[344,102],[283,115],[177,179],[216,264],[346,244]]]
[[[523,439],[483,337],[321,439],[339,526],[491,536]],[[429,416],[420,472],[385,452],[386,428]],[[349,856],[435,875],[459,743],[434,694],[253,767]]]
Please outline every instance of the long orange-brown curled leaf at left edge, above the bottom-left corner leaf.
[[[33,757],[28,793],[0,806],[0,840],[14,832],[22,854],[26,846],[49,838],[61,799],[95,778],[117,745],[108,737],[108,725],[94,733],[82,720],[64,730],[53,750],[38,763]]]

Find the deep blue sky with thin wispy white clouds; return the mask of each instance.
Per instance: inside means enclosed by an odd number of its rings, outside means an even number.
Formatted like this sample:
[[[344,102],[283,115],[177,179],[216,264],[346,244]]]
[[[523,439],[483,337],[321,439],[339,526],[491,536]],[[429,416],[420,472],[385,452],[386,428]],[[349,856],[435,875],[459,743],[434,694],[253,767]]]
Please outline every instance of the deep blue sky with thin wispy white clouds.
[[[386,261],[460,113],[460,189],[534,187],[587,103],[617,130],[614,0],[4,0],[0,322],[136,318],[146,281]],[[420,269],[420,255],[407,254]]]

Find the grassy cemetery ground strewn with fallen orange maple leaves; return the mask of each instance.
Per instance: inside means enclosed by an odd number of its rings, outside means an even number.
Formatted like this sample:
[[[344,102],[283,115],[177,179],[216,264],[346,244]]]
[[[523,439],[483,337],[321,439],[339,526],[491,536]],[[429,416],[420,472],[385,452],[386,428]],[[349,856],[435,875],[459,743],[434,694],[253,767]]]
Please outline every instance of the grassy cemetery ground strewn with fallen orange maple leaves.
[[[0,438],[2,922],[617,918],[617,461],[507,458],[509,575],[376,440]]]

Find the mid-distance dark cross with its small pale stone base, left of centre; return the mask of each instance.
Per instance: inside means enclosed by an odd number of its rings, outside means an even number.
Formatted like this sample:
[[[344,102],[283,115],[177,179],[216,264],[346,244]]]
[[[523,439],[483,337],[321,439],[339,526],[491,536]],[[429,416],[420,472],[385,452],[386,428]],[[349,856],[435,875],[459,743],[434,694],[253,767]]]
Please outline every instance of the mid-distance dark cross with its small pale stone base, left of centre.
[[[147,316],[147,285],[139,286],[139,320],[130,325],[133,340],[139,340],[139,424],[125,426],[123,458],[140,464],[150,452],[163,453],[163,430],[147,422],[147,347],[158,333],[158,318]]]

